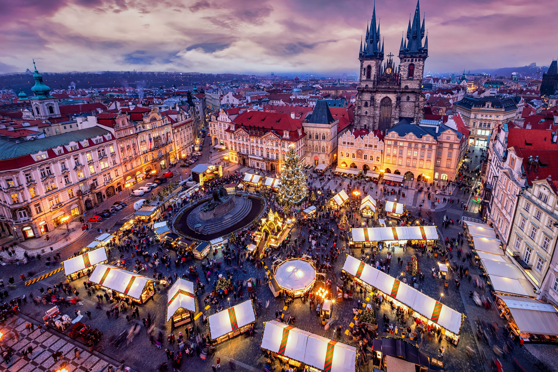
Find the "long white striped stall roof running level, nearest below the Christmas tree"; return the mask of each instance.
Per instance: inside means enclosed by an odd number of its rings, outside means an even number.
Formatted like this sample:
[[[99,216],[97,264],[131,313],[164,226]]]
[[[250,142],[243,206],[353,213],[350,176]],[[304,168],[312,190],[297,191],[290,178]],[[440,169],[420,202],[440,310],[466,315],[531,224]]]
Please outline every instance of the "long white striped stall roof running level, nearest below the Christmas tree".
[[[351,229],[354,241],[433,240],[438,239],[436,226],[397,226],[392,228]]]

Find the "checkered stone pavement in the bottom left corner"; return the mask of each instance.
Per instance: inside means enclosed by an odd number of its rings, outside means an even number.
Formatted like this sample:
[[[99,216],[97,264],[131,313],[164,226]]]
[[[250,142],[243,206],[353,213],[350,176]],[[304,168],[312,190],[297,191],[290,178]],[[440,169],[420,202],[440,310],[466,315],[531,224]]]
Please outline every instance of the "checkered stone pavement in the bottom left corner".
[[[9,339],[3,340],[3,348],[11,347],[15,354],[11,357],[9,364],[2,363],[1,370],[9,372],[44,372],[56,371],[65,368],[68,372],[87,371],[89,368],[93,372],[100,372],[113,366],[118,367],[111,360],[106,360],[98,352],[92,353],[84,350],[83,346],[70,342],[67,337],[57,335],[51,331],[40,332],[35,323],[35,330],[27,330],[25,325],[27,320],[21,317],[13,317],[10,322],[2,327],[4,336]],[[14,335],[18,336],[15,337]],[[80,351],[79,359],[75,356],[75,347]],[[23,350],[31,347],[31,353],[27,356],[22,354]],[[62,352],[62,357],[57,362],[54,361],[52,354],[56,351]],[[6,369],[4,369],[6,368]]]

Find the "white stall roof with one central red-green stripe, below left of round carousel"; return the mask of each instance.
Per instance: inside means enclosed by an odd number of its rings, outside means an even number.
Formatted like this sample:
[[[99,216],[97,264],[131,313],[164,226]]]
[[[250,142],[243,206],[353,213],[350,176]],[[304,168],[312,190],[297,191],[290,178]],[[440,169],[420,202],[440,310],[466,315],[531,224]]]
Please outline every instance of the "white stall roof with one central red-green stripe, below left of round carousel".
[[[252,300],[249,299],[233,307],[216,312],[210,315],[208,320],[209,333],[213,340],[229,332],[237,331],[239,328],[256,321]]]

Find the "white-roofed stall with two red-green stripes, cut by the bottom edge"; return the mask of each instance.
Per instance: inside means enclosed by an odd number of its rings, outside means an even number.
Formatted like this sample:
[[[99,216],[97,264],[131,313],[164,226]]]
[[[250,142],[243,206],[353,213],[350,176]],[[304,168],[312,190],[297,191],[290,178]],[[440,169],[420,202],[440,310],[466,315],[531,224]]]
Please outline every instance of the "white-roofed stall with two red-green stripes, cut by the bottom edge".
[[[297,369],[312,372],[357,369],[356,347],[275,320],[264,322],[260,347]]]

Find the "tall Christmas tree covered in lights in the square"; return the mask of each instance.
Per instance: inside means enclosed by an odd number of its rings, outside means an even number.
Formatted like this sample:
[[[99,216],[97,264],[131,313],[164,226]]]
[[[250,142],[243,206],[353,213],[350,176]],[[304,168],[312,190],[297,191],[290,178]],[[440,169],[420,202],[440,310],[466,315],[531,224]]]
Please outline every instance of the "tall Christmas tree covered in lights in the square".
[[[281,171],[281,186],[279,187],[279,202],[286,207],[292,207],[306,198],[308,187],[306,176],[299,156],[295,152],[295,146],[291,145],[285,155],[283,169]]]

